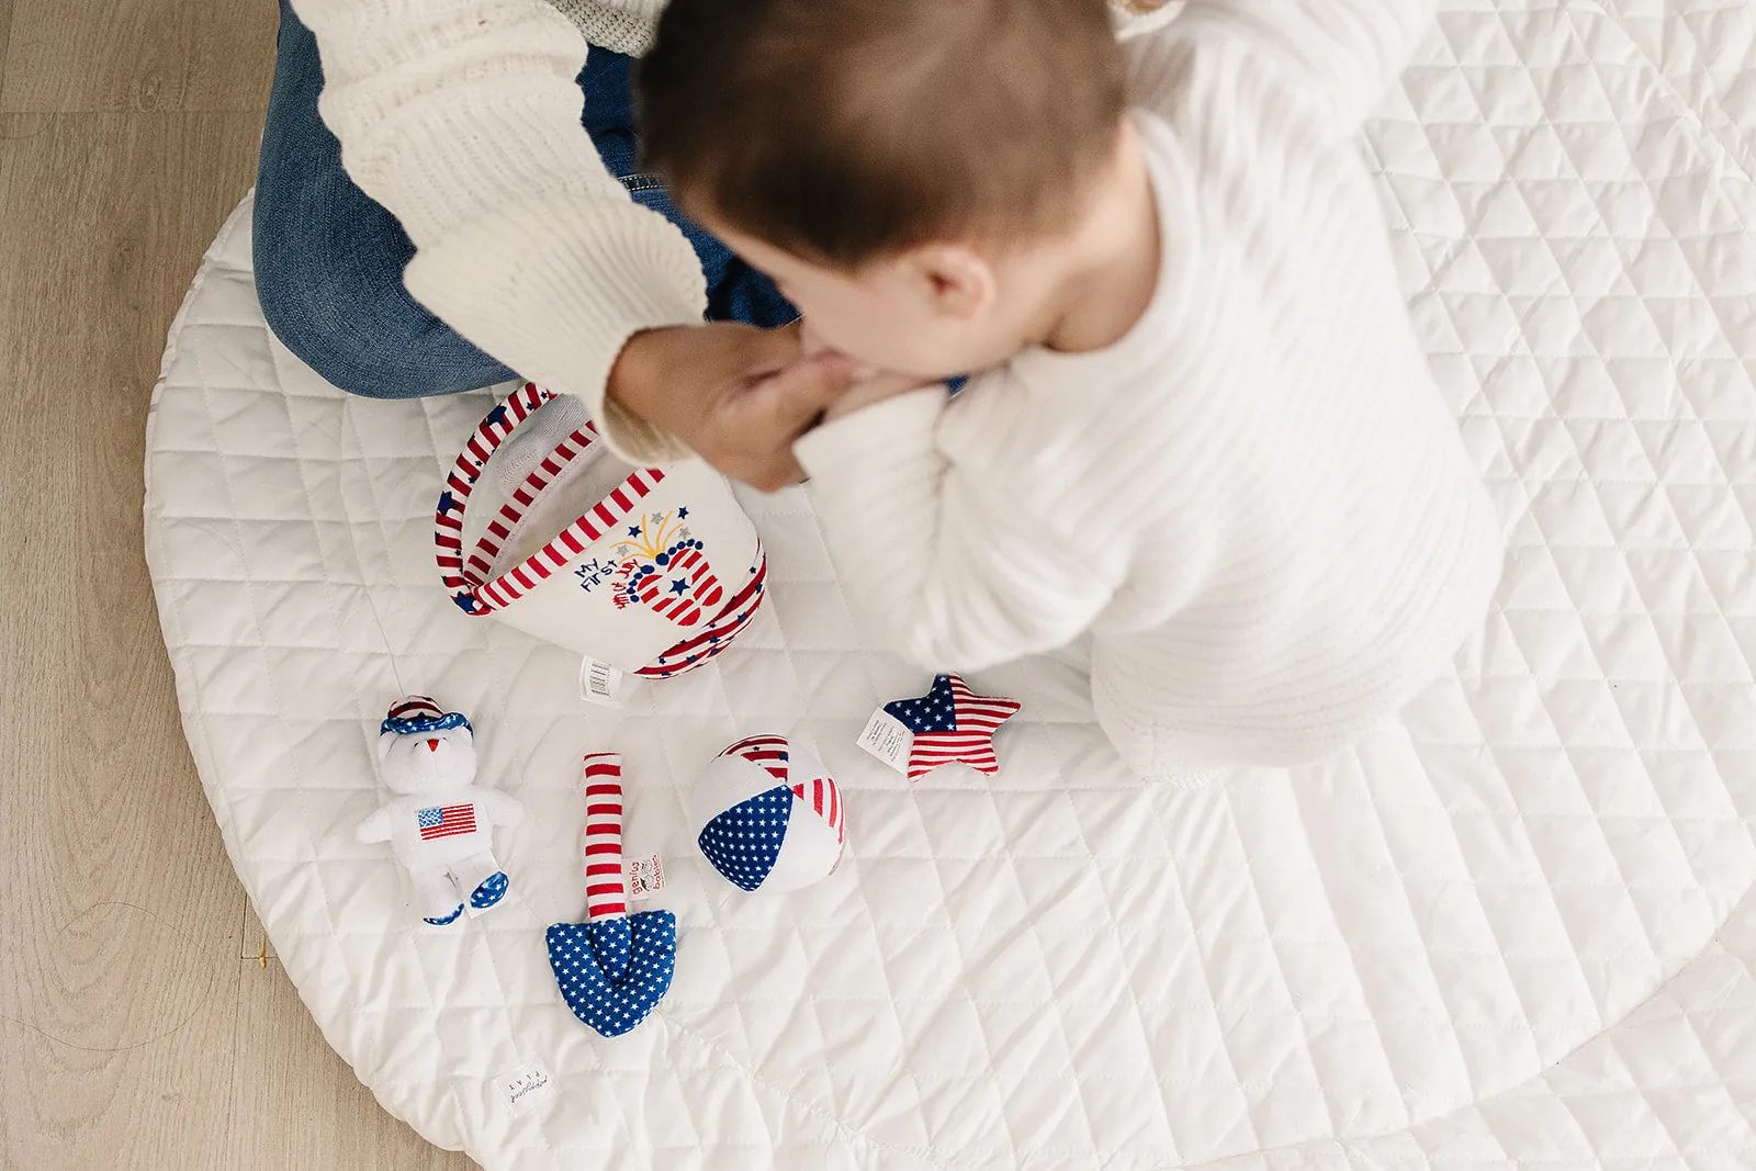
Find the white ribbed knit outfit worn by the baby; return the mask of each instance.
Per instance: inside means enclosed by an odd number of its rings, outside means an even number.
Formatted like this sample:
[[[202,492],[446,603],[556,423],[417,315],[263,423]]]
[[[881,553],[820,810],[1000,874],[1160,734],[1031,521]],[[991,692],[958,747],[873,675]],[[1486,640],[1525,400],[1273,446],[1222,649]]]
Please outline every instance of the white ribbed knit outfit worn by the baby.
[[[1090,630],[1098,718],[1143,774],[1342,748],[1445,667],[1500,578],[1352,144],[1417,5],[1324,4],[1284,32],[1191,4],[1133,46],[1164,262],[1120,342],[797,444],[899,651],[980,669]]]

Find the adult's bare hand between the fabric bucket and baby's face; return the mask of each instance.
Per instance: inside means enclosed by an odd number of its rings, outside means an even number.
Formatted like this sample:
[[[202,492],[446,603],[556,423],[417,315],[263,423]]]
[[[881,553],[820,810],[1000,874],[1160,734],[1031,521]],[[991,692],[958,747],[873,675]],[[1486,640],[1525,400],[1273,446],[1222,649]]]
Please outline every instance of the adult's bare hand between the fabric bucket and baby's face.
[[[608,393],[727,476],[776,492],[804,478],[792,441],[817,425],[855,374],[845,355],[806,355],[797,328],[715,321],[630,337]]]

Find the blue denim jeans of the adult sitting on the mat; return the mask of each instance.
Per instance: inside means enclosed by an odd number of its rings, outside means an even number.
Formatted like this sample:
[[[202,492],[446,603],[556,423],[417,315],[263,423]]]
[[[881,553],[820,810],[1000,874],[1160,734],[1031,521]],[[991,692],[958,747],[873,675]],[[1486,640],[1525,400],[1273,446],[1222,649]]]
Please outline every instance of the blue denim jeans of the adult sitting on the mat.
[[[578,79],[581,123],[609,174],[694,244],[709,320],[795,320],[767,277],[683,218],[657,177],[636,170],[630,72],[630,58],[592,47]],[[318,116],[321,90],[316,39],[281,0],[255,214],[256,297],[276,337],[335,386],[372,399],[450,395],[518,377],[409,297],[402,270],[414,244],[342,170],[341,142]]]

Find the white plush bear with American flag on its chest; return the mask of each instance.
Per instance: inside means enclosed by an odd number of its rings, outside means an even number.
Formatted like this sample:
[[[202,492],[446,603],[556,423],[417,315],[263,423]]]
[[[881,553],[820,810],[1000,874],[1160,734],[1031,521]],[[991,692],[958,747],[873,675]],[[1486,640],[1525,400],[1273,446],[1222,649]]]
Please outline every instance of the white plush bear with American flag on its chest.
[[[414,881],[414,906],[434,925],[455,923],[506,895],[506,871],[493,857],[495,825],[518,825],[525,808],[476,787],[476,737],[460,711],[441,711],[425,695],[390,708],[378,729],[385,785],[397,794],[360,822],[362,843],[388,841]]]

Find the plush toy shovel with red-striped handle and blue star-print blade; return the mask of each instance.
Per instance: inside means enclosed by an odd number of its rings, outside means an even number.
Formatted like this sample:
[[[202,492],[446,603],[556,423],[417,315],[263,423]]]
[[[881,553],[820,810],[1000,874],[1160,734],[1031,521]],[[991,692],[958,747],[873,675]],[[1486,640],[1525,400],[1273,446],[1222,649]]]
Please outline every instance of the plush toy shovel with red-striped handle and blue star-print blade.
[[[606,1038],[646,1020],[676,971],[676,915],[629,915],[622,876],[622,757],[585,757],[583,923],[548,929],[550,967],[572,1015]]]

